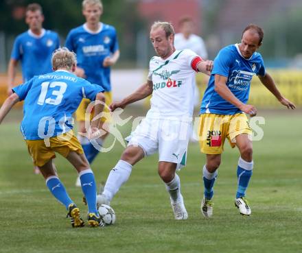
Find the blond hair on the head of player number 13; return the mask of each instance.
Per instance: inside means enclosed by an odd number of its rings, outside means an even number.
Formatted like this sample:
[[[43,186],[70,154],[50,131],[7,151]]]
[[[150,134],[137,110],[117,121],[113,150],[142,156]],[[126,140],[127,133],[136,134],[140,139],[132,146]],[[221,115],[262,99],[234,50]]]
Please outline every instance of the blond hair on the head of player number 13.
[[[67,47],[60,47],[52,54],[51,64],[55,71],[57,69],[71,70],[77,64],[77,58],[75,53],[69,51]]]

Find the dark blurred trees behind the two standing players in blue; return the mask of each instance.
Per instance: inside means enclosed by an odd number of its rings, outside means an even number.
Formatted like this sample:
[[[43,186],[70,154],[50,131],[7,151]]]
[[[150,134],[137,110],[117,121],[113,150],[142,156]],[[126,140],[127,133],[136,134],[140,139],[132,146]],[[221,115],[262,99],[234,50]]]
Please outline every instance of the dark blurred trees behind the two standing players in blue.
[[[25,24],[25,8],[33,2],[42,5],[45,16],[43,27],[58,32],[63,40],[70,29],[85,21],[82,16],[82,0],[1,0],[0,31],[16,36],[28,29]],[[104,12],[101,21],[117,29],[121,62],[135,60],[136,34],[144,26],[144,21],[137,13],[137,3],[129,0],[102,0],[102,3]]]

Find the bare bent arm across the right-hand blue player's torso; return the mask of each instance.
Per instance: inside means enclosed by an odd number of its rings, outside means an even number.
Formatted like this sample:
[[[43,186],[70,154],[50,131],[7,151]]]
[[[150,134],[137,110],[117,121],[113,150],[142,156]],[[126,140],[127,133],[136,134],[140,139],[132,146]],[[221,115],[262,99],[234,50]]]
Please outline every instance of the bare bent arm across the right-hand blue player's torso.
[[[237,97],[235,97],[235,95],[230,91],[227,86],[227,77],[218,74],[215,75],[215,91],[220,95],[220,97],[242,110],[242,112],[245,112],[251,117],[257,115],[257,109],[255,106],[243,104],[242,101],[237,99]]]

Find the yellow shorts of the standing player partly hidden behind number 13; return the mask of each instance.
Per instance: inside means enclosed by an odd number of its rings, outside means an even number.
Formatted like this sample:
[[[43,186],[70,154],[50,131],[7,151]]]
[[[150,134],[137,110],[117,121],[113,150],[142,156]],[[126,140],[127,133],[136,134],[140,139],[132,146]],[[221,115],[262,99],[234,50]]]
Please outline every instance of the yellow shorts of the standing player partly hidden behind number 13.
[[[105,103],[106,106],[104,107],[104,112],[106,112],[106,117],[102,117],[101,121],[102,122],[111,122],[111,115],[110,115],[110,110],[108,108],[108,106],[112,103],[112,93],[111,91],[106,91],[104,92],[104,96],[105,96]],[[75,111],[75,117],[77,119],[77,121],[85,121],[85,112],[87,109],[87,106],[89,105],[91,101],[89,99],[82,99],[78,109]],[[93,110],[91,112],[90,115],[90,120],[93,119]]]

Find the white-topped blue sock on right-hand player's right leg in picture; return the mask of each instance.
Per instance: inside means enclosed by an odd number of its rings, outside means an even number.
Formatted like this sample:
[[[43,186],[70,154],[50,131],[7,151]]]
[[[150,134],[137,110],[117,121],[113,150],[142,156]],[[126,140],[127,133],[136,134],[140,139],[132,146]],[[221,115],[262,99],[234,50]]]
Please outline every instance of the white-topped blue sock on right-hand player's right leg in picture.
[[[237,167],[237,193],[236,198],[244,197],[246,189],[248,188],[248,182],[253,174],[253,161],[246,162],[241,157],[238,160]]]

